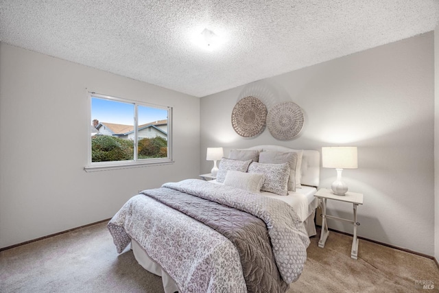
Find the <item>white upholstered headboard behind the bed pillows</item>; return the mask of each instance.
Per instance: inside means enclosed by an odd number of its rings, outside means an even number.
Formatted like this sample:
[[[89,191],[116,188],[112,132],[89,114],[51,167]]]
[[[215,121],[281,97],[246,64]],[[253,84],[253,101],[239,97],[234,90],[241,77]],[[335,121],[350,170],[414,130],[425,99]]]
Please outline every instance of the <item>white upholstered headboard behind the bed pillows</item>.
[[[259,150],[272,152],[294,152],[292,148],[285,148],[281,145],[257,145],[245,150]],[[317,150],[303,150],[302,166],[300,167],[300,183],[318,187],[320,184],[320,153]]]

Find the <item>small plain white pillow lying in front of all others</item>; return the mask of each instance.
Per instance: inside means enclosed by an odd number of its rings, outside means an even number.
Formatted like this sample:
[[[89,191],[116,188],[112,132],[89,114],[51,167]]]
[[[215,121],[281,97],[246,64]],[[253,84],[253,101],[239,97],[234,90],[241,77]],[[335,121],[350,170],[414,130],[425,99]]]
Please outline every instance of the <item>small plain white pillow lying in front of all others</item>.
[[[253,194],[259,194],[263,185],[263,174],[250,174],[239,171],[230,170],[224,179],[224,185],[246,189]]]

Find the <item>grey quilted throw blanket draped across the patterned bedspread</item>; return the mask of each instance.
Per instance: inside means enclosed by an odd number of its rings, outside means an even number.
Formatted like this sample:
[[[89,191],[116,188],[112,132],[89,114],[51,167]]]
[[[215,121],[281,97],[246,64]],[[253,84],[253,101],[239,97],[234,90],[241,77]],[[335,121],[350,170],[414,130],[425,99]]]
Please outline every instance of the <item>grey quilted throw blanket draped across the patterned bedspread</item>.
[[[289,284],[282,280],[276,267],[267,226],[244,211],[191,196],[181,191],[142,192],[226,236],[237,248],[248,292],[285,292]]]

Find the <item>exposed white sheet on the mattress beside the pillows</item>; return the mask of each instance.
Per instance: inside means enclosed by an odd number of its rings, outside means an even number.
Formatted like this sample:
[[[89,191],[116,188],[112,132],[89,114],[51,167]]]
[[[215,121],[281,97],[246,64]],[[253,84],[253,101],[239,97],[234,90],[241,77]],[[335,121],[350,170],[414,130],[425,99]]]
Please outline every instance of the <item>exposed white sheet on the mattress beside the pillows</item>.
[[[222,185],[217,180],[211,180],[210,183]],[[293,207],[294,211],[298,214],[300,221],[307,220],[309,215],[317,208],[317,198],[314,194],[317,192],[316,187],[302,186],[302,188],[296,188],[296,191],[288,191],[287,196],[279,196],[268,191],[261,191],[261,196],[268,196],[269,198],[276,198],[283,200]]]

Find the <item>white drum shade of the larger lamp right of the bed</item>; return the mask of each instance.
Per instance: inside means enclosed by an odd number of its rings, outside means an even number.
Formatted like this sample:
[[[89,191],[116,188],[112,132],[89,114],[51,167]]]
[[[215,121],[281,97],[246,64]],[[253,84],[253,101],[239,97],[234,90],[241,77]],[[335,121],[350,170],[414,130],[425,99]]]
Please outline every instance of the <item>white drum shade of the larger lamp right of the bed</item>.
[[[335,169],[357,169],[357,147],[323,147],[322,167]]]

